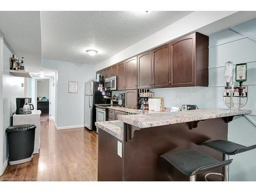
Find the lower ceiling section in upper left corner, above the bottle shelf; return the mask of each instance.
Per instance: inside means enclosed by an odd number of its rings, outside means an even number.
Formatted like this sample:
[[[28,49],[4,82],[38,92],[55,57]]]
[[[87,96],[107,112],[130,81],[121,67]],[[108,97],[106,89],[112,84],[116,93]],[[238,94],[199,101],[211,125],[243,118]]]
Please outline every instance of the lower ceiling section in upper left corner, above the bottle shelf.
[[[0,11],[0,31],[17,57],[30,66],[41,65],[39,11]]]

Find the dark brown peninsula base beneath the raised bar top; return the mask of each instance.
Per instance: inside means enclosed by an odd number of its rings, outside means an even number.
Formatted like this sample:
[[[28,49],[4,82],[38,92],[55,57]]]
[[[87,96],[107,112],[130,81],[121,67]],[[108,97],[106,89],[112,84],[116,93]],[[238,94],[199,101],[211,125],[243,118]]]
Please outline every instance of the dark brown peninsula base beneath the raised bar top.
[[[197,150],[219,161],[222,154],[198,143],[208,140],[227,140],[227,123],[222,118],[206,119],[196,129],[186,123],[149,127],[138,127],[124,123],[123,141],[99,129],[98,135],[98,181],[188,181],[188,177],[167,161],[159,158],[166,152]],[[134,138],[127,140],[131,132]],[[122,158],[117,155],[117,141],[122,143]],[[108,166],[106,166],[108,165]],[[197,175],[204,181],[207,173],[222,173],[214,168]],[[221,181],[221,177],[209,177]]]

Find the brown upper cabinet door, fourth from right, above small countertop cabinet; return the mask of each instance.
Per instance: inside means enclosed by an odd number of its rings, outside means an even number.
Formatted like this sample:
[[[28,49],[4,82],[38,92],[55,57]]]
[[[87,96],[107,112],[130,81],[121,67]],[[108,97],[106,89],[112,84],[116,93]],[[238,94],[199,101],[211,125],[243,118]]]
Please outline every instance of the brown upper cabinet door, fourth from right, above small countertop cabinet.
[[[125,61],[125,90],[137,89],[137,57]]]

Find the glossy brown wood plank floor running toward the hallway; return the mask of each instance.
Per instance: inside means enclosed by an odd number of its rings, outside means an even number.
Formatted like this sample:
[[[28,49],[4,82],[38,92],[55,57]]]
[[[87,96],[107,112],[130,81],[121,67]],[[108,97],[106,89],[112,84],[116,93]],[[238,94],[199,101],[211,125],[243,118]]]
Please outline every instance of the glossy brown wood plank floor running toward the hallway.
[[[98,135],[83,127],[56,130],[40,117],[40,153],[32,161],[8,165],[1,181],[97,181]]]

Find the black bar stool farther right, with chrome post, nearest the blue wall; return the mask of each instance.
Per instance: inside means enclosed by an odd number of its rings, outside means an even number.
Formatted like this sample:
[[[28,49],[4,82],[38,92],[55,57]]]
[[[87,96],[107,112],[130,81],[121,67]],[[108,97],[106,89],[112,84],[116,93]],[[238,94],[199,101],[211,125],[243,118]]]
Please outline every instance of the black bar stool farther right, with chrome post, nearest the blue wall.
[[[226,161],[229,159],[229,155],[236,155],[239,153],[247,152],[250,150],[253,150],[256,148],[256,145],[252,146],[244,146],[240,145],[238,143],[234,143],[231,141],[225,141],[225,140],[215,140],[215,141],[208,141],[200,143],[199,145],[204,145],[210,148],[213,148],[214,150],[221,152],[223,154],[223,161]],[[228,177],[228,164],[222,169],[222,175],[223,175],[223,181],[229,181]],[[215,174],[215,173],[211,173]],[[208,174],[210,175],[210,174]],[[205,178],[206,179],[206,178]]]

